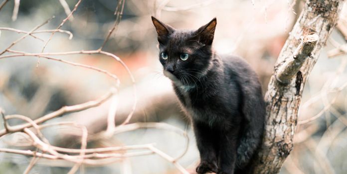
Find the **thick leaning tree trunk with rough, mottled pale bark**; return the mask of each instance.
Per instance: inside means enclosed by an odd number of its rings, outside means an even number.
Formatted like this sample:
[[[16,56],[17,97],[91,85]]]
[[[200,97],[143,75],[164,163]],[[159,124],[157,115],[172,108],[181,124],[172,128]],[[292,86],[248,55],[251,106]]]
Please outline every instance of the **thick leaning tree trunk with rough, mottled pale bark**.
[[[263,145],[254,174],[277,174],[293,149],[305,82],[335,27],[344,0],[307,0],[275,64],[268,90]]]

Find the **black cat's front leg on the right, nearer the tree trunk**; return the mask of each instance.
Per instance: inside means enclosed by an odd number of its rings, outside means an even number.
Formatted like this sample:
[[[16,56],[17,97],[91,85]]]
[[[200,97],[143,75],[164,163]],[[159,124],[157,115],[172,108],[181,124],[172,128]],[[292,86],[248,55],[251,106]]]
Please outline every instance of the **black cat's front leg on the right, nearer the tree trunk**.
[[[238,130],[221,131],[219,134],[219,160],[217,174],[234,174],[237,154]]]

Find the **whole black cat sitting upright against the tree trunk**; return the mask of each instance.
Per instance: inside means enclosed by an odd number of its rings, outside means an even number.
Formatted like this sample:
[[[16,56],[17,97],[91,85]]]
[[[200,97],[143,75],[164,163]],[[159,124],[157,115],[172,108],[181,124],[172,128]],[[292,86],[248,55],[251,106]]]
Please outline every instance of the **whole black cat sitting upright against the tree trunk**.
[[[257,75],[241,58],[221,58],[213,51],[216,18],[196,31],[152,21],[164,75],[194,128],[201,159],[196,172],[251,173],[265,124]]]

